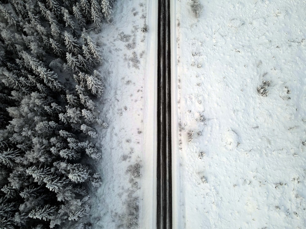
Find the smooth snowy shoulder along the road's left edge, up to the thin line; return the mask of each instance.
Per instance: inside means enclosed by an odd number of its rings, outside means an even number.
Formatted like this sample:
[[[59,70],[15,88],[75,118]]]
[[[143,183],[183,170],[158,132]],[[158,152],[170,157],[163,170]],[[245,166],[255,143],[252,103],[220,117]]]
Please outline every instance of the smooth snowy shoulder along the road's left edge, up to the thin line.
[[[141,198],[139,228],[156,225],[156,76],[157,76],[157,3],[146,0],[148,32],[145,40],[144,67],[144,141],[141,170]]]

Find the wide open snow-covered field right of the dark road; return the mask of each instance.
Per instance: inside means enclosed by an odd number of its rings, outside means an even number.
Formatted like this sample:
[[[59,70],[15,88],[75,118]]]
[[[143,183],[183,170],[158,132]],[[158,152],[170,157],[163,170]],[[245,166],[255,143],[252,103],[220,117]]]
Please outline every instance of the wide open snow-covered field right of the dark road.
[[[174,228],[306,228],[306,2],[190,2],[172,1]]]

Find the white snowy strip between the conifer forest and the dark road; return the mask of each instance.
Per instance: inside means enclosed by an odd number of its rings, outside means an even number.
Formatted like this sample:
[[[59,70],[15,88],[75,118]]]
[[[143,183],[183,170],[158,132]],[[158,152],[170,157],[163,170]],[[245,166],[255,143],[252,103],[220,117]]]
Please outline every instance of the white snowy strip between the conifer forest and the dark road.
[[[117,0],[113,22],[92,34],[105,59],[99,118],[109,125],[97,127],[102,159],[95,166],[103,182],[91,190],[96,229],[154,224],[155,4]]]

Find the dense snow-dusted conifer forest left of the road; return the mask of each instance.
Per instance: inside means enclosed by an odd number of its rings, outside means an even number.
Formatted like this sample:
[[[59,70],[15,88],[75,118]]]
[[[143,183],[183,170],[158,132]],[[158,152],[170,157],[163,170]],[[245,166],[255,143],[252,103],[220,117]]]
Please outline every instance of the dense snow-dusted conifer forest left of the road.
[[[0,2],[0,228],[90,228],[95,99],[113,0]],[[90,163],[87,163],[90,164]]]

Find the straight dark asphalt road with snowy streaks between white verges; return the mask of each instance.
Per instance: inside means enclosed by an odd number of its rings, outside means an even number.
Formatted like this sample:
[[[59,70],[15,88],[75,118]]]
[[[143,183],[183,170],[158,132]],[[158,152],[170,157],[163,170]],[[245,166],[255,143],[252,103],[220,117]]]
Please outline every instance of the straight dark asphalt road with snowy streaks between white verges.
[[[170,0],[158,2],[157,229],[172,228]]]

